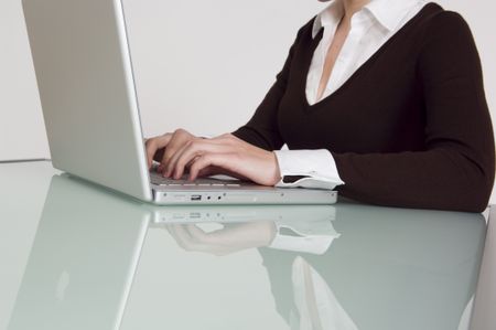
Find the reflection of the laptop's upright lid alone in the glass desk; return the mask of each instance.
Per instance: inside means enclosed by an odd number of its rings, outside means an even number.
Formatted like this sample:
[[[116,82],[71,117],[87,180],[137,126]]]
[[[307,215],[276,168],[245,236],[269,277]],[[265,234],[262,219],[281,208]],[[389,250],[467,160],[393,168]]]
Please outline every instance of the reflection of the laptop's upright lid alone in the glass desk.
[[[8,329],[119,329],[149,217],[55,175]]]

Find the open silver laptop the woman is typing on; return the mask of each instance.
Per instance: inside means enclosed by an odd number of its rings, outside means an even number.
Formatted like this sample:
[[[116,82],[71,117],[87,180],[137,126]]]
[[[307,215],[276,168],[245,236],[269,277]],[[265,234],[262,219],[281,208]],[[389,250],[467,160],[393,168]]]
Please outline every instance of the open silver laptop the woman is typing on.
[[[22,2],[55,168],[158,204],[336,201],[335,191],[149,172],[121,0]]]

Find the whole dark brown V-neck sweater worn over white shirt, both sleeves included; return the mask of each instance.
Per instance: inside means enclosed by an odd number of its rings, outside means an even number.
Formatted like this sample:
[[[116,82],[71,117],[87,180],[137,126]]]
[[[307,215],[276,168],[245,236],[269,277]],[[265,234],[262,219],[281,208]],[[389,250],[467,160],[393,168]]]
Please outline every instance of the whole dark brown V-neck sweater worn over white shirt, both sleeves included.
[[[315,105],[306,75],[322,32],[300,29],[274,85],[235,136],[267,150],[330,150],[348,198],[481,212],[495,146],[481,60],[463,18],[427,4]]]

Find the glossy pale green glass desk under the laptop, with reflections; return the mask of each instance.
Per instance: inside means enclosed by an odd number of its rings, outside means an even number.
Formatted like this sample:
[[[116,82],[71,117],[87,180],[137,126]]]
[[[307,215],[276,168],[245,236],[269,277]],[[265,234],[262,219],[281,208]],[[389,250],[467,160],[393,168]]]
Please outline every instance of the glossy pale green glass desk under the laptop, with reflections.
[[[0,329],[468,329],[486,220],[153,206],[0,163]]]

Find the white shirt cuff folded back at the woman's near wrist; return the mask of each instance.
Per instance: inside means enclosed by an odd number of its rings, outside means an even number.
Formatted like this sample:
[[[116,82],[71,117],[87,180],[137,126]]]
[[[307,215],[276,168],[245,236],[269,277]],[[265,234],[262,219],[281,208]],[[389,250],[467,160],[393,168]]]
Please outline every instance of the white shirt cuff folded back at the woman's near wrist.
[[[337,172],[336,162],[326,149],[319,150],[277,150],[273,151],[279,163],[282,180],[276,187],[313,188],[333,190],[344,184]],[[305,177],[294,182],[284,182],[284,177]]]

